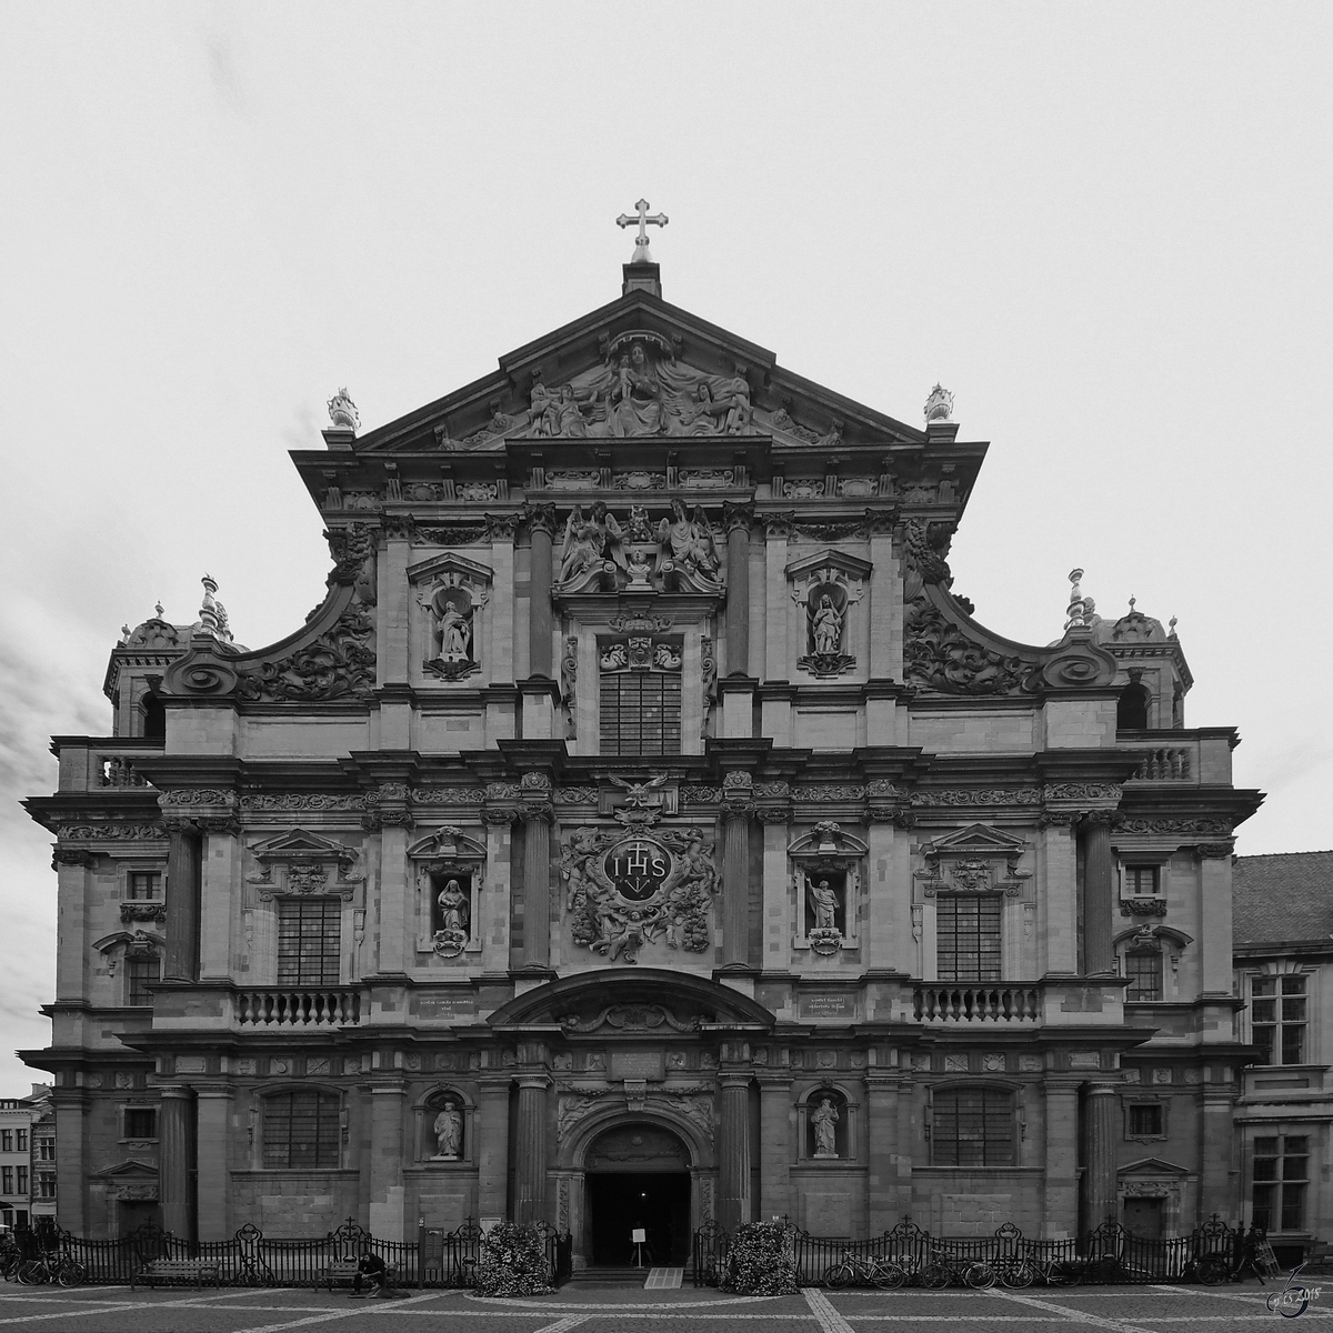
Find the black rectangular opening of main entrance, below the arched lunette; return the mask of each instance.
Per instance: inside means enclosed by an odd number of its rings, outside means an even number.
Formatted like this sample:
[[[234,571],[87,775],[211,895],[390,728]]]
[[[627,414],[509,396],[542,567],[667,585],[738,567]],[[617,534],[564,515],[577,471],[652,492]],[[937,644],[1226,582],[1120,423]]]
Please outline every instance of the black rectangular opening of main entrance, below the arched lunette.
[[[632,1265],[636,1230],[647,1237],[645,1268],[686,1264],[689,1172],[607,1172],[587,1178],[596,1266]]]

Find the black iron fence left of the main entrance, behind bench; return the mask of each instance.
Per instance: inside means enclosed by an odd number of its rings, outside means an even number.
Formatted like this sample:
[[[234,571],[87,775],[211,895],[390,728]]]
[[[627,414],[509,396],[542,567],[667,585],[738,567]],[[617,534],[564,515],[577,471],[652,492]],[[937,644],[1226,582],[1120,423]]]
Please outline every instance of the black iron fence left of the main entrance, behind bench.
[[[559,1286],[569,1277],[572,1237],[547,1222],[539,1222],[537,1230],[545,1242],[551,1284]],[[99,1284],[128,1284],[155,1260],[167,1258],[216,1264],[221,1282],[229,1286],[316,1286],[339,1265],[379,1254],[395,1285],[428,1288],[473,1286],[481,1236],[481,1228],[468,1218],[453,1230],[424,1226],[415,1241],[392,1241],[348,1218],[336,1230],[308,1240],[271,1238],[247,1222],[224,1241],[188,1241],[144,1222],[115,1240],[93,1241],[48,1228],[19,1233],[19,1244],[32,1256],[55,1252],[72,1258],[83,1266],[84,1281]]]

